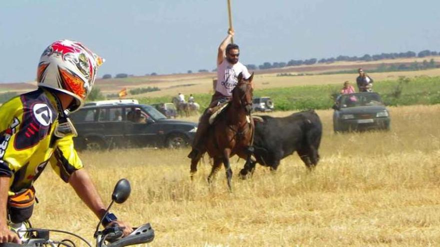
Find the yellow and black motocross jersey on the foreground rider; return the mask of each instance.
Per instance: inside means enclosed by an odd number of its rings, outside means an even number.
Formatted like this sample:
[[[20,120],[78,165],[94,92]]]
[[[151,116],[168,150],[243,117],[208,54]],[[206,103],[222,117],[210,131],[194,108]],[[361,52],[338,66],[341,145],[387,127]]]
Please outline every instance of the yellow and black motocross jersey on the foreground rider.
[[[0,107],[0,176],[10,177],[9,194],[28,189],[48,162],[64,182],[82,163],[72,136],[53,135],[56,101],[44,89],[24,93]]]

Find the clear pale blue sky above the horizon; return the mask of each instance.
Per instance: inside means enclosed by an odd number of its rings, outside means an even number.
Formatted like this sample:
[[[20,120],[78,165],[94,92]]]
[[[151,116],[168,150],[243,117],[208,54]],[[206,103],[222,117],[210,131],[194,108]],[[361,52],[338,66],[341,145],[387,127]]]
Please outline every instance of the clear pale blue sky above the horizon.
[[[440,51],[438,0],[231,0],[242,63]],[[30,81],[56,39],[83,42],[106,73],[215,67],[226,0],[13,0],[0,8],[0,82]]]

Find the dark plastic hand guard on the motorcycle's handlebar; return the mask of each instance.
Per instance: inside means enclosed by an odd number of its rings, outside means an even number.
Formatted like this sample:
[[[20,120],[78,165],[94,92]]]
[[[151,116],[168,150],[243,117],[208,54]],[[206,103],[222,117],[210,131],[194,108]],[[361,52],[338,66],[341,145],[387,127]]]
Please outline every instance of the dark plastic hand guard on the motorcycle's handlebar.
[[[154,230],[149,223],[135,229],[128,236],[111,243],[107,247],[124,247],[136,244],[146,244],[154,240]]]

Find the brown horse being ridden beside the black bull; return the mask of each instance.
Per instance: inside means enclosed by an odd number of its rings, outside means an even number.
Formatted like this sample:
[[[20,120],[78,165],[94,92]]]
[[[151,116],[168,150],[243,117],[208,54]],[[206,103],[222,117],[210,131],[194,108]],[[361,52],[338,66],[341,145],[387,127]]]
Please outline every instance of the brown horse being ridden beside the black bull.
[[[206,136],[206,151],[213,158],[211,173],[207,180],[211,183],[212,176],[220,170],[224,164],[226,170],[227,186],[231,190],[232,170],[229,158],[238,155],[250,162],[251,143],[253,136],[253,121],[250,117],[252,109],[252,78],[248,79],[238,75],[238,84],[232,90],[232,100],[221,115],[217,116],[213,126],[210,127]],[[197,163],[200,156],[191,160],[191,179],[197,171]]]

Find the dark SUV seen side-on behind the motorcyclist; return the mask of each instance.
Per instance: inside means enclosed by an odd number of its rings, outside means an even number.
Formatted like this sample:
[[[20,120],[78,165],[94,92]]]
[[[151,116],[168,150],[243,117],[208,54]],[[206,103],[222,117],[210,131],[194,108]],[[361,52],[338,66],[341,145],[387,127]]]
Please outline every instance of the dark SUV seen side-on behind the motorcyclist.
[[[112,147],[188,146],[197,124],[167,119],[150,105],[109,103],[84,106],[70,116],[78,136],[74,145],[80,149]]]

